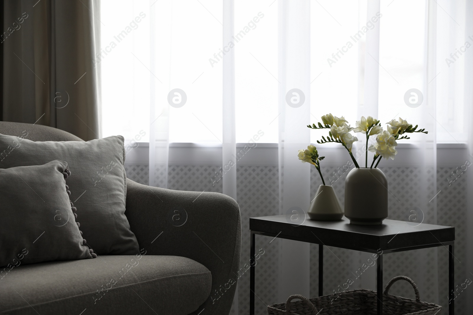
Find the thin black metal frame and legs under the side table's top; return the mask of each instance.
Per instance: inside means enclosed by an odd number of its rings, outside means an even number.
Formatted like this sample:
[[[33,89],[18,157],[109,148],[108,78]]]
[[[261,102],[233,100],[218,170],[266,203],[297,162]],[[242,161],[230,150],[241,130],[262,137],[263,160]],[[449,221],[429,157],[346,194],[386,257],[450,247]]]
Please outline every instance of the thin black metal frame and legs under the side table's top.
[[[362,248],[362,247],[352,247],[352,246],[342,246],[336,243],[322,243],[320,240],[317,239],[310,239],[310,238],[298,238],[292,237],[288,235],[281,235],[281,234],[274,234],[274,233],[267,233],[267,232],[260,232],[256,230],[250,230],[251,232],[251,250],[250,250],[250,261],[253,259],[254,261],[254,251],[255,251],[255,235],[263,235],[269,236],[273,238],[285,238],[285,239],[292,239],[306,243],[318,244],[319,245],[319,296],[324,295],[324,246],[332,246],[332,247],[339,247],[339,248],[346,248],[352,250],[358,250],[367,253],[377,253],[372,249]],[[448,242],[439,242],[439,243],[431,243],[426,245],[420,246],[412,246],[412,247],[400,247],[394,249],[386,249],[383,250],[383,253],[378,255],[377,258],[377,275],[376,275],[376,282],[377,282],[377,294],[378,303],[377,303],[377,314],[383,314],[383,255],[397,253],[397,252],[404,252],[414,249],[421,249],[421,248],[430,248],[430,247],[446,247],[448,245],[448,314],[455,315],[455,295],[454,295],[454,286],[455,286],[455,261],[454,261],[454,249],[455,249],[455,241],[448,241]],[[447,248],[447,247],[446,247]],[[250,265],[250,315],[254,315],[254,276],[255,276],[255,264]]]

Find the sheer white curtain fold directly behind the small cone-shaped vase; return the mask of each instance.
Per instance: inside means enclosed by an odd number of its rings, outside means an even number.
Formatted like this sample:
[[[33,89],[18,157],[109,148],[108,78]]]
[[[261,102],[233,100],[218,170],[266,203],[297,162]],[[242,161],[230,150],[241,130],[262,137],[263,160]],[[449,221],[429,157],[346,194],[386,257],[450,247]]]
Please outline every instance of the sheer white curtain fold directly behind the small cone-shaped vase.
[[[279,196],[280,214],[302,224],[311,200],[310,169],[297,159],[310,144],[310,1],[280,0],[279,14]],[[309,295],[308,243],[280,240],[279,300]]]

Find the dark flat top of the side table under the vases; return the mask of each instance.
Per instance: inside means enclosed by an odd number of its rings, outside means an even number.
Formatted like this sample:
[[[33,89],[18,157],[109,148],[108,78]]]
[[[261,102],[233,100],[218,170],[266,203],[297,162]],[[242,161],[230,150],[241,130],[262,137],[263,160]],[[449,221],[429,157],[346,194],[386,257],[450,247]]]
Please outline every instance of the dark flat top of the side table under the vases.
[[[340,221],[307,218],[296,225],[285,215],[250,218],[250,230],[278,238],[288,238],[326,246],[384,253],[453,244],[455,228],[410,221],[384,220],[381,225],[355,225]]]

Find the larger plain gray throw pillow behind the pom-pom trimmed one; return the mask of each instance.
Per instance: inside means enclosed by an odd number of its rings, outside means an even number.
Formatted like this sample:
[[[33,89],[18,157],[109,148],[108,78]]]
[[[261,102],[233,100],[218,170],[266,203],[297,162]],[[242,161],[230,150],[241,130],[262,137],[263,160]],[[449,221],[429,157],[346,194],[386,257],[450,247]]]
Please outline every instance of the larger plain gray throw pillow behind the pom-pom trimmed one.
[[[80,211],[80,230],[97,255],[134,255],[138,241],[125,216],[123,136],[83,141],[35,142],[0,134],[0,168],[68,163],[70,200]]]

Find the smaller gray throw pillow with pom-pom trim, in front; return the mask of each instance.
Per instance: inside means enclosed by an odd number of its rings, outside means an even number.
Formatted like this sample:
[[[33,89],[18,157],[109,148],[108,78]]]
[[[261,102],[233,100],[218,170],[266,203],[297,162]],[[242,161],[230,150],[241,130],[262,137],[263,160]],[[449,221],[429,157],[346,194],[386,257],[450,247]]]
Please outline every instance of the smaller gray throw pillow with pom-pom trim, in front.
[[[19,264],[96,257],[69,200],[66,162],[0,169],[1,277]]]

